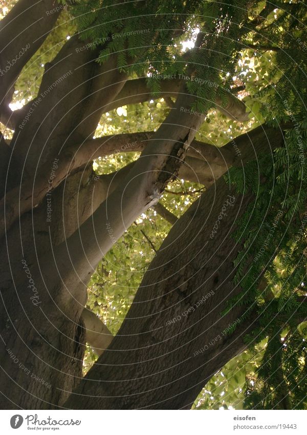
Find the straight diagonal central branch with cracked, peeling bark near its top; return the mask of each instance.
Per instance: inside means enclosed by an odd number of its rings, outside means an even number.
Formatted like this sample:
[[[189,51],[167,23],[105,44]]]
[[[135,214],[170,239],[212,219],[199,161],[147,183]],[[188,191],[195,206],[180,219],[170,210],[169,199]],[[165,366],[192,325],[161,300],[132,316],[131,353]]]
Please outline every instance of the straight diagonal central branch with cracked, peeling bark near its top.
[[[190,107],[193,100],[186,94],[177,100],[177,105]],[[48,253],[46,258],[38,259],[37,281],[41,281],[42,274],[48,286],[57,289],[55,300],[63,310],[69,312],[72,299],[80,300],[80,288],[89,280],[101,256],[142,212],[158,202],[167,182],[178,173],[203,119],[188,113],[178,117],[171,111],[124,182],[78,231],[54,248],[52,257]],[[69,292],[62,284],[59,288],[62,282]]]

